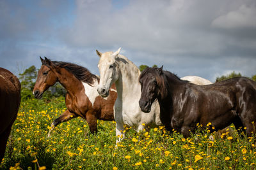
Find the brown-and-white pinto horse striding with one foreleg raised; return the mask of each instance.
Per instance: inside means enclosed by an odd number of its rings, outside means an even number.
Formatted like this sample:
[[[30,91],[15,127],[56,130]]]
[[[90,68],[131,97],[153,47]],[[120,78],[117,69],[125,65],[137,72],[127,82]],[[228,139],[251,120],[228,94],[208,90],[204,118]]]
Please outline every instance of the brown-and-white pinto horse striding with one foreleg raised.
[[[97,132],[97,119],[115,120],[113,106],[116,100],[115,85],[111,88],[110,96],[104,99],[99,96],[97,86],[99,78],[90,73],[88,69],[69,62],[51,61],[40,57],[42,66],[38,71],[33,94],[40,99],[45,90],[57,81],[67,90],[67,110],[52,122],[51,131],[61,122],[66,122],[75,117],[86,119],[90,131]]]

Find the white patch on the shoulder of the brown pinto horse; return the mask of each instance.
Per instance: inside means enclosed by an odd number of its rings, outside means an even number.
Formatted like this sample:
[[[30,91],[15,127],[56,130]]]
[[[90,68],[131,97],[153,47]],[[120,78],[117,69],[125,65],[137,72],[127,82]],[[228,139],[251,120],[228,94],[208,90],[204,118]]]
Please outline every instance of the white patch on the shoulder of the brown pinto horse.
[[[94,80],[94,83],[92,84],[92,86],[88,85],[87,83],[84,83],[83,81],[82,81],[82,83],[84,85],[85,95],[88,97],[88,99],[90,100],[90,102],[92,103],[92,106],[93,106],[96,97],[99,96],[99,93],[97,92],[99,83],[97,80]]]

